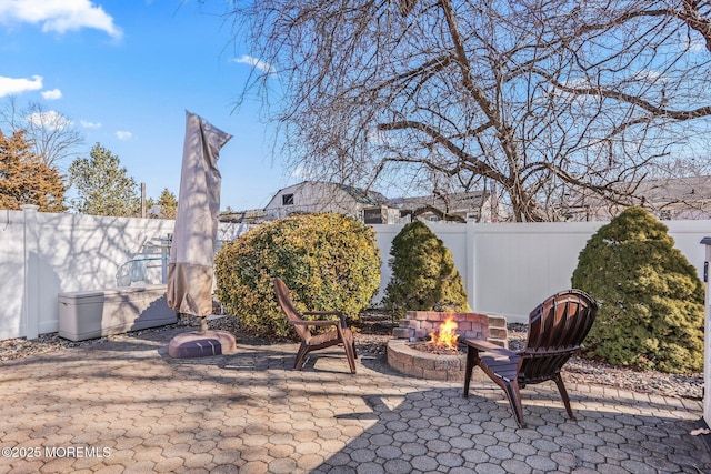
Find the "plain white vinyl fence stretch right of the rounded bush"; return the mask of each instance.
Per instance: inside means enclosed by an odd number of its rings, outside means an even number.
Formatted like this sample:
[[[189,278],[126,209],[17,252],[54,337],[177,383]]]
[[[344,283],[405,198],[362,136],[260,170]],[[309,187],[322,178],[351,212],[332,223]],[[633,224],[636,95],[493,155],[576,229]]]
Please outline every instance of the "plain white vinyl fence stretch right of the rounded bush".
[[[528,314],[551,294],[571,288],[578,255],[607,222],[444,224],[428,226],[452,252],[464,281],[469,304],[478,313],[527,322]],[[701,240],[711,235],[711,221],[664,221],[675,246],[703,279]],[[390,280],[392,239],[403,225],[374,225],[382,259],[379,301]]]

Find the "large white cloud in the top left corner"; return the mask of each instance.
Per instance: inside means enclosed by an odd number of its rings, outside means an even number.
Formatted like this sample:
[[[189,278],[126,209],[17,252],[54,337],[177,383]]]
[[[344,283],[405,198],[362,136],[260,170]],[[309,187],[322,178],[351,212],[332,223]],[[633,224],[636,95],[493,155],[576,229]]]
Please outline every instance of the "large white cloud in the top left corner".
[[[82,28],[104,31],[121,38],[113,18],[90,0],[2,0],[0,23],[41,24],[43,32],[66,33]]]

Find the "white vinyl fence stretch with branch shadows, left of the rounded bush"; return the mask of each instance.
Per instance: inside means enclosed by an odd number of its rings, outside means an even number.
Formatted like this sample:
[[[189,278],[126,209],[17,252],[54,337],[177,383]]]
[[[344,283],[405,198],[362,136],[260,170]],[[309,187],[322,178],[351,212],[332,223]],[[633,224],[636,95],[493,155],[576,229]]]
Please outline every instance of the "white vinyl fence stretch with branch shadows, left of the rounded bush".
[[[174,221],[0,211],[0,341],[59,330],[58,294],[116,289],[117,276],[160,284],[161,242]],[[220,224],[218,240],[246,226]]]

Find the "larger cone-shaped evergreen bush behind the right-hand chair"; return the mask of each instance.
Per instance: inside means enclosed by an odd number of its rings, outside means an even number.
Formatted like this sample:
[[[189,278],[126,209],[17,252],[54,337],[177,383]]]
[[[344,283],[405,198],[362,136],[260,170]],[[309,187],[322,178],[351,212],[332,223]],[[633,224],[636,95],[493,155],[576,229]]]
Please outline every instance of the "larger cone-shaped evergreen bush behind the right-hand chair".
[[[630,208],[588,241],[572,285],[601,304],[585,345],[615,365],[672,373],[703,366],[703,284],[668,229]]]

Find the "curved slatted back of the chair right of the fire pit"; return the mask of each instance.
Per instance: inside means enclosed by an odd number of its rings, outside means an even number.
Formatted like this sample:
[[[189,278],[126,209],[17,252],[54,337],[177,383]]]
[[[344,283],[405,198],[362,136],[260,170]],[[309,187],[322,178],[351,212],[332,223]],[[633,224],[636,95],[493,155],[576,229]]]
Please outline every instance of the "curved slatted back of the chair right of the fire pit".
[[[525,349],[519,362],[519,382],[550,380],[582,347],[598,305],[580,290],[557,293],[529,315]]]

